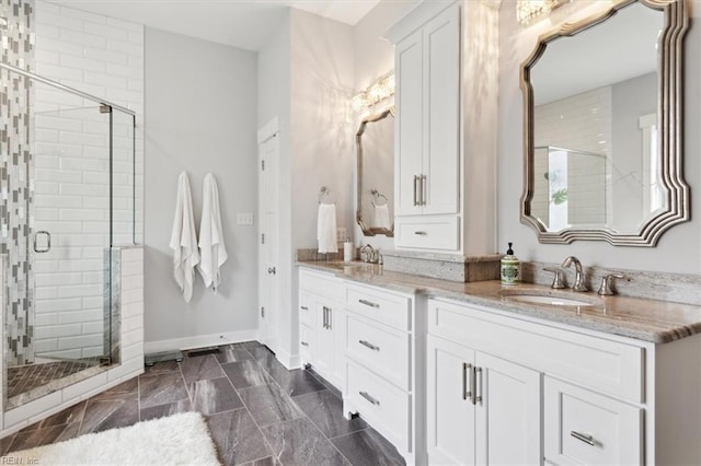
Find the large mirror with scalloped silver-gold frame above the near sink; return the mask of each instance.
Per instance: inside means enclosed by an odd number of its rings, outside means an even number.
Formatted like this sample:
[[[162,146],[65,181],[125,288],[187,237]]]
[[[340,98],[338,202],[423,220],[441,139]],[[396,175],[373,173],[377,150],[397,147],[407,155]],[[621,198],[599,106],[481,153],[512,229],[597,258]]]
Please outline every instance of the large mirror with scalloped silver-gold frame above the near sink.
[[[541,243],[654,246],[689,220],[685,0],[624,0],[541,36],[521,66],[521,222]]]

